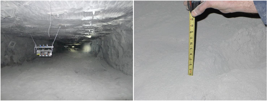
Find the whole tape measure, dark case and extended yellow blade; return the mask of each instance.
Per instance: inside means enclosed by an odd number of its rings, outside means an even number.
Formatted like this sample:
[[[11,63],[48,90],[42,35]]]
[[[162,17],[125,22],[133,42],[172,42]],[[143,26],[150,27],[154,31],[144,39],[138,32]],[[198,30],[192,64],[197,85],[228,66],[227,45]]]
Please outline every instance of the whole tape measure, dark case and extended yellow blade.
[[[189,48],[188,48],[188,75],[193,76],[195,53],[195,18],[191,15],[201,1],[187,1],[189,9]]]

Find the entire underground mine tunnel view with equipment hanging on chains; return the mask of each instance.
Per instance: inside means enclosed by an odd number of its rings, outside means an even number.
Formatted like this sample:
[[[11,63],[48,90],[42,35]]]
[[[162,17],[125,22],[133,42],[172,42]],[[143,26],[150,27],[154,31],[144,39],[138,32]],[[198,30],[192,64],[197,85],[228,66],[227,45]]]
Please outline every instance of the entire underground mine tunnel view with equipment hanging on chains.
[[[1,100],[133,100],[133,1],[1,1]]]

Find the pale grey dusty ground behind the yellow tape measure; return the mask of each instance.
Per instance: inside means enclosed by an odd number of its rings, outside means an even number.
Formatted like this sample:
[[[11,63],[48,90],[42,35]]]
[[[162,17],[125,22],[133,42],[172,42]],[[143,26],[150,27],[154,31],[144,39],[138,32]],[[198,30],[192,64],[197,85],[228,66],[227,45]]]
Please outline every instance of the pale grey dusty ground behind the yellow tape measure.
[[[134,100],[266,100],[266,26],[260,18],[212,10],[197,17],[189,76],[183,1],[134,6]]]

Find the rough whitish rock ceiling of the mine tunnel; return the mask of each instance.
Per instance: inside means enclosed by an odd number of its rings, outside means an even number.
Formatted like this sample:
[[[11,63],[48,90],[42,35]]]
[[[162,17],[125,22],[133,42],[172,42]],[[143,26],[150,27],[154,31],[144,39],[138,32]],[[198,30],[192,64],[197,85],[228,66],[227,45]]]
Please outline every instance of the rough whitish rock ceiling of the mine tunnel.
[[[61,26],[56,41],[71,43],[133,25],[132,1],[52,1],[51,12],[50,1],[1,1],[1,34],[54,40]]]

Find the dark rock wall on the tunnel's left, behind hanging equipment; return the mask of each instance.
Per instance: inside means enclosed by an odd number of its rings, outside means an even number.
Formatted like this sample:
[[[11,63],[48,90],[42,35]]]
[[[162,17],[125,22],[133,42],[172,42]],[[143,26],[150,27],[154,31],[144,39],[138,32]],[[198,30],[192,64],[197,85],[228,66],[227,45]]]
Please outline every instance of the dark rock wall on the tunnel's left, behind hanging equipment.
[[[9,47],[11,41],[16,42],[14,48]],[[34,41],[36,42],[36,45],[52,45],[53,42],[38,39],[34,39]],[[60,48],[57,48],[57,44],[58,43],[56,42],[54,43],[53,53],[61,51]],[[5,66],[19,65],[25,61],[34,60],[37,57],[39,56],[36,56],[36,53],[34,53],[34,42],[31,38],[1,34],[1,68]]]

